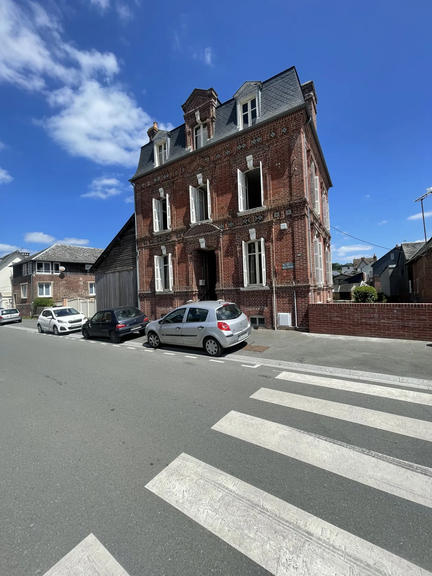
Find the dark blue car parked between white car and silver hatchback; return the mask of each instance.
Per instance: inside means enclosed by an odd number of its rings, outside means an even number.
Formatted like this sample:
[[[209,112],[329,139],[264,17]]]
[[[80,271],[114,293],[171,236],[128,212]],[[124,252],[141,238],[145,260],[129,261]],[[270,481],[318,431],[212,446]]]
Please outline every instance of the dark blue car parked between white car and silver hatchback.
[[[87,320],[81,327],[85,340],[101,337],[109,338],[113,344],[118,344],[122,337],[131,332],[144,335],[149,319],[135,306],[123,306],[110,310],[99,310],[93,318]]]

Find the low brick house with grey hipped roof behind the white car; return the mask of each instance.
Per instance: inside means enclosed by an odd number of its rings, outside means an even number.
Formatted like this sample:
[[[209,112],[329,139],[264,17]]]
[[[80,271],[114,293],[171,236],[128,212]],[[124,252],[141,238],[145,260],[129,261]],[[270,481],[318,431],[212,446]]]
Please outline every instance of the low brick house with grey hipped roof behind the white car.
[[[30,316],[38,296],[53,298],[58,305],[71,298],[94,300],[96,286],[90,268],[102,252],[100,248],[54,244],[12,264],[13,305]]]

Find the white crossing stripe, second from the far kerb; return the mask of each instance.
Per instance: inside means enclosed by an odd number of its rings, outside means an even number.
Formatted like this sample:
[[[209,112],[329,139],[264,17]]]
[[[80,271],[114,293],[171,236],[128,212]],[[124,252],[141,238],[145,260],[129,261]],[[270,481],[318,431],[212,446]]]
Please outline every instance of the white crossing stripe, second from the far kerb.
[[[255,394],[252,394],[251,398],[432,442],[432,422],[425,420],[416,420],[407,418],[407,416],[378,412],[378,410],[370,410],[370,408],[339,404],[338,402],[271,390],[270,388],[260,388]]]

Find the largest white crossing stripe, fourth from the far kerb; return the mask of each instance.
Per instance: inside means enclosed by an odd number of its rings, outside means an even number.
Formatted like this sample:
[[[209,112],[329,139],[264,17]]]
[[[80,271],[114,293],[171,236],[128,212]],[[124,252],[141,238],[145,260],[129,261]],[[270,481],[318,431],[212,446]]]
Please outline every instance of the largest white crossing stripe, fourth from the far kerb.
[[[278,576],[432,576],[188,454],[146,488]]]

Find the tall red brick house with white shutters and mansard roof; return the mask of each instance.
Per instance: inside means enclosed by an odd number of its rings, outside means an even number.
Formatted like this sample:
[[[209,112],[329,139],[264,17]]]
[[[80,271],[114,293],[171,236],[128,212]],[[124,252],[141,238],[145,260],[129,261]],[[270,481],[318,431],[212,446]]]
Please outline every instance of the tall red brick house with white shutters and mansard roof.
[[[131,179],[147,316],[221,298],[259,325],[290,313],[307,328],[308,304],[331,301],[332,183],[316,104],[291,67],[223,104],[195,89],[184,124],[150,128]]]

